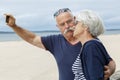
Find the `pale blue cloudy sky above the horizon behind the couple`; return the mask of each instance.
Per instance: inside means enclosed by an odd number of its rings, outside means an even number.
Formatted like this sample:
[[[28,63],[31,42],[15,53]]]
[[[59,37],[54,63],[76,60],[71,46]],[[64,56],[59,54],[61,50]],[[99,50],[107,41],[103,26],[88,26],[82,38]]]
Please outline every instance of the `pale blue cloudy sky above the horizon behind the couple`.
[[[0,31],[12,31],[5,13],[30,31],[58,30],[53,14],[60,8],[69,8],[74,15],[93,10],[102,17],[105,29],[120,29],[120,0],[0,0]]]

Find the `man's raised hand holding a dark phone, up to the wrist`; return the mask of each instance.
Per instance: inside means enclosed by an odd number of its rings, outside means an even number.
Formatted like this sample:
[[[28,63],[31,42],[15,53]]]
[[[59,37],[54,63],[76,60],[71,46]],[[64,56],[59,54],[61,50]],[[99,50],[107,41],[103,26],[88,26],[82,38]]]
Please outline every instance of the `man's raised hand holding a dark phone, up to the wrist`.
[[[4,14],[6,16],[6,23],[8,26],[10,27],[14,27],[16,24],[15,24],[15,18],[10,15],[10,14]]]

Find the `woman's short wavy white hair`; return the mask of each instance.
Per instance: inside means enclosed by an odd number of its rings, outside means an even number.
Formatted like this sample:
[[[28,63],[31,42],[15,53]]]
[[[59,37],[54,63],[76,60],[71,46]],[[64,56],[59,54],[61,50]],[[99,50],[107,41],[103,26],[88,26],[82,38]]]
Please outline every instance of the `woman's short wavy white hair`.
[[[104,33],[104,25],[99,15],[91,10],[83,10],[76,16],[76,21],[80,21],[88,27],[88,31],[93,37]]]

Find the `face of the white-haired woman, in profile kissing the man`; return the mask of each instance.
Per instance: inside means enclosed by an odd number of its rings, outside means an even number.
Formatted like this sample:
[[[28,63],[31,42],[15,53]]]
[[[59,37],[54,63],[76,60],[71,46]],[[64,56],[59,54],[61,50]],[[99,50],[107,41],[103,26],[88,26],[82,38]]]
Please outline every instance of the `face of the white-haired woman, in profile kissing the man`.
[[[83,27],[83,23],[78,21],[75,26],[73,36],[76,38],[80,37],[84,33],[84,30],[85,30],[85,28]]]

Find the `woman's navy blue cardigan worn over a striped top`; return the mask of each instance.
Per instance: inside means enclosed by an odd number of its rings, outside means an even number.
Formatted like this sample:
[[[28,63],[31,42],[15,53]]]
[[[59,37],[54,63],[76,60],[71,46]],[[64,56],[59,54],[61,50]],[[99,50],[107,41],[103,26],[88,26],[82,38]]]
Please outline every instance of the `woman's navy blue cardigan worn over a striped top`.
[[[81,59],[82,71],[84,73],[83,75],[86,80],[104,79],[104,66],[112,59],[99,40],[95,39],[86,42],[79,56]]]

